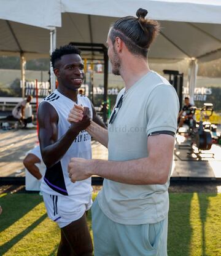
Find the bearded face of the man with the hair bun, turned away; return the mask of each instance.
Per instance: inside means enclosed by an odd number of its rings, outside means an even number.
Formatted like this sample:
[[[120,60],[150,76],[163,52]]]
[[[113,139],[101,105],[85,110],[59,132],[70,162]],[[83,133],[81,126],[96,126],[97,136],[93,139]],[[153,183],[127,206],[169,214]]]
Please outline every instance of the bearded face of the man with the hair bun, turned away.
[[[110,34],[110,31],[109,31],[109,34]],[[119,76],[120,75],[120,67],[121,67],[120,57],[117,54],[117,51],[115,50],[114,44],[112,44],[109,34],[107,36],[107,47],[108,47],[107,55],[109,57],[111,65],[112,65],[112,73]]]

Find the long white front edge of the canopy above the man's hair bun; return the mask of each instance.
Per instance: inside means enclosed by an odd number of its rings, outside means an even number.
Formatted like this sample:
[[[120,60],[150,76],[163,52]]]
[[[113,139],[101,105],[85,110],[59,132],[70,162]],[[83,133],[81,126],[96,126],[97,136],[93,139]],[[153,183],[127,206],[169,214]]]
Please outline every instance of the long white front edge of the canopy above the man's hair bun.
[[[61,0],[62,12],[124,17],[139,7],[149,10],[155,20],[173,22],[221,23],[220,0]]]

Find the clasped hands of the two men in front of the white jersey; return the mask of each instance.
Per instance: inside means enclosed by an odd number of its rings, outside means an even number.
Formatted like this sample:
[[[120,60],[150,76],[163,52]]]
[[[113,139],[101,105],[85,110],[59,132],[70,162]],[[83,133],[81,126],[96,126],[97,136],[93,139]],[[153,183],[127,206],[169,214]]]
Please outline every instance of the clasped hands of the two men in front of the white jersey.
[[[90,110],[87,107],[75,105],[68,115],[68,121],[75,131],[85,130],[91,124]]]

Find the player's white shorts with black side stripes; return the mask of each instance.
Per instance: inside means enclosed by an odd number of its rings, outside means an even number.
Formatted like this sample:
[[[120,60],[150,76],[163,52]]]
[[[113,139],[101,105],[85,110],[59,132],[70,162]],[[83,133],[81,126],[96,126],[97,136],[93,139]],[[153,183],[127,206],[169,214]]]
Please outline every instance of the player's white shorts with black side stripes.
[[[60,228],[79,220],[92,205],[91,194],[85,195],[85,202],[80,202],[77,196],[42,194],[48,217],[58,223]]]

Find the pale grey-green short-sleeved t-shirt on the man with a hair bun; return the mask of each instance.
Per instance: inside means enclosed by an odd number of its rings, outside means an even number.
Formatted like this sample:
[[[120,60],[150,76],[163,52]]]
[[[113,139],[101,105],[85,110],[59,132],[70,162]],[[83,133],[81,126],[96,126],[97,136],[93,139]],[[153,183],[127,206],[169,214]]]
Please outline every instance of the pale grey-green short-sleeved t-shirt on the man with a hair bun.
[[[165,78],[150,71],[126,92],[122,89],[117,102],[122,94],[122,106],[108,126],[109,160],[147,158],[150,133],[160,130],[176,133],[179,113],[176,90]],[[168,214],[168,186],[169,178],[164,185],[128,185],[104,179],[98,204],[117,223],[157,223]]]

